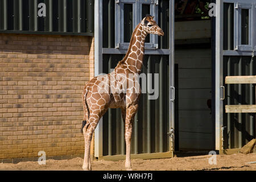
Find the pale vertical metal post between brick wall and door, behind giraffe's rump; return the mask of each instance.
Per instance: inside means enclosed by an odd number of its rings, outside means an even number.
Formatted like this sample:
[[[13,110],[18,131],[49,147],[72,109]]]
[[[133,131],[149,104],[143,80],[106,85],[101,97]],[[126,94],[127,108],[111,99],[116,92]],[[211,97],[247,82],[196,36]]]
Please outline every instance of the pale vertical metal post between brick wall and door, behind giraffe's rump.
[[[98,76],[102,73],[102,1],[94,1],[94,76]],[[98,122],[94,134],[95,141],[95,156],[102,156],[102,142],[103,142],[103,125],[102,118]]]

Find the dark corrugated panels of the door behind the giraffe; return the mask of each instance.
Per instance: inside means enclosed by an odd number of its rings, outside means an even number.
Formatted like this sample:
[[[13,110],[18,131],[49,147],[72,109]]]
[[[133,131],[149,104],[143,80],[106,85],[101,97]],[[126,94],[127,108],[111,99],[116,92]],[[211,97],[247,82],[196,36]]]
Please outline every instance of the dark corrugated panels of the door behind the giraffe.
[[[159,48],[169,47],[169,2],[159,1],[158,24],[165,32],[159,37]],[[103,1],[103,47],[114,48],[114,0]],[[164,23],[163,23],[164,22]],[[103,71],[109,73],[125,55],[103,55]],[[145,55],[142,73],[159,73],[159,98],[148,100],[147,93],[139,100],[133,124],[131,154],[169,151],[169,56]],[[152,79],[154,80],[154,78]],[[154,84],[153,84],[154,85]],[[103,155],[125,154],[124,125],[120,109],[109,109],[103,117]]]

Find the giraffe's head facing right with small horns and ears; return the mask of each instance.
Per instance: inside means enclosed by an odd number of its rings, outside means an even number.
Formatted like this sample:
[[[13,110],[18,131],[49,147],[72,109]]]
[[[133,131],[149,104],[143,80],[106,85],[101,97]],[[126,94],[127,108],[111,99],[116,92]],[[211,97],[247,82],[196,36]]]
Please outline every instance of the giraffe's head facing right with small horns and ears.
[[[143,30],[147,34],[156,34],[156,35],[163,36],[164,35],[163,30],[158,26],[158,24],[156,24],[153,18],[154,16],[151,16],[151,15],[146,15],[146,17],[143,18],[143,20],[141,21]]]

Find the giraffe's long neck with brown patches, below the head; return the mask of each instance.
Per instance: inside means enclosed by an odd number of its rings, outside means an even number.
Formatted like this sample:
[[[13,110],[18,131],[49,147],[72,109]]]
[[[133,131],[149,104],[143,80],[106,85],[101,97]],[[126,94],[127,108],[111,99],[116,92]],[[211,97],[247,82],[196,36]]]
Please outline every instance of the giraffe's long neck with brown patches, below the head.
[[[139,23],[131,36],[129,49],[123,58],[123,63],[135,73],[141,73],[146,35],[147,33],[143,31],[142,25]]]

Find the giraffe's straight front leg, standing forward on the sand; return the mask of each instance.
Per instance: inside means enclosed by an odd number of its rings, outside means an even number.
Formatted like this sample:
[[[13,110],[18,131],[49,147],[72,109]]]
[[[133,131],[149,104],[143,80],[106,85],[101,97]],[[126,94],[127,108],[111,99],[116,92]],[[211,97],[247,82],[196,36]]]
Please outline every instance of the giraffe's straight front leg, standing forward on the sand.
[[[138,105],[131,105],[126,109],[126,119],[125,119],[125,142],[126,142],[126,160],[125,168],[127,171],[131,171],[131,134],[133,132],[133,121],[134,116],[137,112]]]

